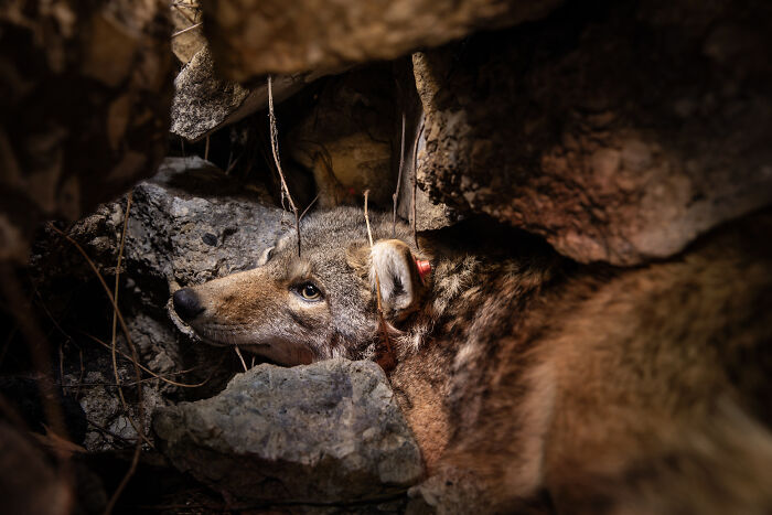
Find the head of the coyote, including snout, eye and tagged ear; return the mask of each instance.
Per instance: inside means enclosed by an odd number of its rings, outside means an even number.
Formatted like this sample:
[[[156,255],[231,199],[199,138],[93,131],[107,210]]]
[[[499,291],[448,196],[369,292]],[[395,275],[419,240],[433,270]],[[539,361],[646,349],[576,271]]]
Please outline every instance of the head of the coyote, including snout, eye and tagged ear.
[[[386,216],[371,214],[371,223],[374,239],[393,236]],[[175,312],[207,343],[238,345],[285,365],[373,357],[376,283],[385,320],[398,323],[428,290],[428,258],[405,243],[404,224],[371,248],[356,208],[312,215],[300,228],[301,256],[291,232],[257,268],[178,290]]]

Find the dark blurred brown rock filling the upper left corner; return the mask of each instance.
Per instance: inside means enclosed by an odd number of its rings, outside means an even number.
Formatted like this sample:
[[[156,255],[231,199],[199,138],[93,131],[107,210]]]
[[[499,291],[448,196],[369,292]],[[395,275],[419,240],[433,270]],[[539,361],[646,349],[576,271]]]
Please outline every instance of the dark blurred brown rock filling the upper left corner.
[[[0,260],[24,264],[39,222],[75,221],[156,170],[168,13],[154,0],[0,7]]]

